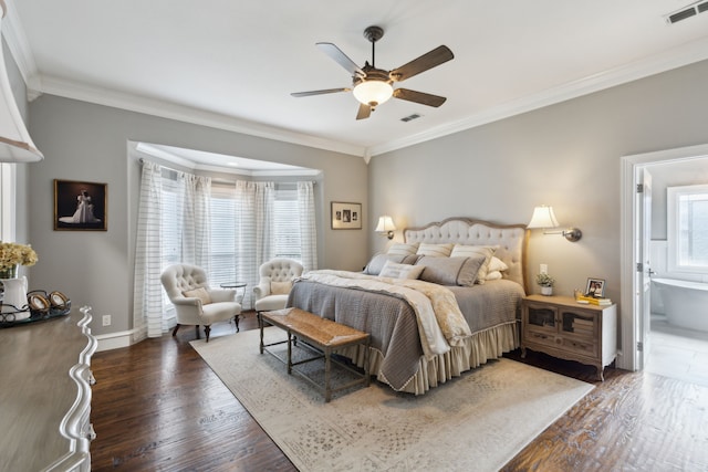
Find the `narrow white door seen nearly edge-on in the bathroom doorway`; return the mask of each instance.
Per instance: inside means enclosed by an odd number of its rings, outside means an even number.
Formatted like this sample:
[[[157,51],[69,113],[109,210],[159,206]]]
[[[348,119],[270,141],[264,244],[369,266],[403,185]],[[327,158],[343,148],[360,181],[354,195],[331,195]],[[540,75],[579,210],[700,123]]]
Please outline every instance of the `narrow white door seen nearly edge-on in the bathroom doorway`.
[[[636,310],[639,314],[639,323],[637,323],[637,339],[641,346],[637,348],[637,367],[644,369],[649,358],[650,336],[649,329],[652,324],[652,265],[649,261],[649,251],[652,242],[652,175],[645,168],[638,169],[637,186],[637,269],[636,269],[636,287],[637,296],[635,301]]]

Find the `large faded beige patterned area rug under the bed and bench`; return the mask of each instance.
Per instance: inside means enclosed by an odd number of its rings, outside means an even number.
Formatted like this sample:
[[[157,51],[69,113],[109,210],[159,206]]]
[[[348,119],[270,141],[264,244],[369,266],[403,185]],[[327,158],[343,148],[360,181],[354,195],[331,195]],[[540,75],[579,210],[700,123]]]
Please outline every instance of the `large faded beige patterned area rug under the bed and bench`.
[[[271,342],[283,336],[266,332]],[[301,471],[497,471],[594,388],[502,358],[424,396],[372,381],[325,403],[259,353],[257,329],[191,345]]]

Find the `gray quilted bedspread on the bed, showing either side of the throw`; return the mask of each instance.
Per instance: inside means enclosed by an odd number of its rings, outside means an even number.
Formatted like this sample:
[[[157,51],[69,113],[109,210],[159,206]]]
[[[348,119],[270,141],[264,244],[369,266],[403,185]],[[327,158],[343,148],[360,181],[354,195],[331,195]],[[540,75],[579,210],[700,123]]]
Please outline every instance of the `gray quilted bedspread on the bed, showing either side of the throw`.
[[[514,322],[523,290],[507,280],[472,287],[449,287],[472,333]],[[381,371],[395,390],[417,373],[423,347],[416,314],[393,294],[336,287],[300,280],[293,285],[288,306],[369,333],[371,346],[382,353]]]

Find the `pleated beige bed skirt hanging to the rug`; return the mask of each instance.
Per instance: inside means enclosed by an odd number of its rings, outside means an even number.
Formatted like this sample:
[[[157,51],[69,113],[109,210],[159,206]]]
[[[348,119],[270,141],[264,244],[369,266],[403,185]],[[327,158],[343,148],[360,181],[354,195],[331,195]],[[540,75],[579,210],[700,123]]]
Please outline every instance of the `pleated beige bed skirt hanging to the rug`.
[[[472,334],[465,339],[462,346],[452,347],[448,353],[434,356],[426,360],[420,356],[418,371],[398,391],[423,395],[430,388],[459,377],[466,370],[479,367],[489,359],[498,359],[503,353],[519,347],[519,329],[517,322],[501,324],[489,329]],[[348,357],[358,367],[364,367],[364,348],[352,346],[339,350],[337,354]],[[384,356],[381,350],[369,348],[369,371],[376,374],[376,379],[391,386],[381,373]],[[392,387],[393,388],[393,387]]]

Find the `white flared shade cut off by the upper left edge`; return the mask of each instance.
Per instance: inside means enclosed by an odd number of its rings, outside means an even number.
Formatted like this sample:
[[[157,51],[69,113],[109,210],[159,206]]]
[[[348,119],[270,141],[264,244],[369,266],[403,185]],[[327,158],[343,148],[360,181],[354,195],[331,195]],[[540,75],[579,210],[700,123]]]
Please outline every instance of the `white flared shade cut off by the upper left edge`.
[[[2,17],[6,13],[6,4],[1,0],[0,13],[1,30]],[[14,102],[0,44],[0,162],[33,162],[43,158],[42,153],[32,143]]]

